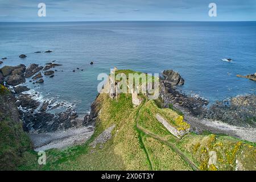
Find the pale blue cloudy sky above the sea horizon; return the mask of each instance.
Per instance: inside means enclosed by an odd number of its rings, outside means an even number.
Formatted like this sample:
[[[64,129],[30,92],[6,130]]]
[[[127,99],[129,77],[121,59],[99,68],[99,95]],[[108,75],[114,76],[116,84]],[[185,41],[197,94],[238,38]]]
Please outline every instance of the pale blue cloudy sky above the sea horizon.
[[[38,16],[38,4],[46,16]],[[209,3],[217,16],[210,17]],[[73,22],[104,20],[256,20],[256,0],[0,0],[0,22]]]

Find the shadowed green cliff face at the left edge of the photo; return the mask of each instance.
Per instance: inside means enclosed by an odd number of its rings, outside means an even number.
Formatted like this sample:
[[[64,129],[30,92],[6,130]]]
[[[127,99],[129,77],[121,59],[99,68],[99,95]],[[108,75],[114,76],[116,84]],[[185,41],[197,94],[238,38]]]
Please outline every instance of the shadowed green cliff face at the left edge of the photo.
[[[0,85],[0,170],[13,170],[23,163],[23,152],[31,148],[22,129],[15,98]]]

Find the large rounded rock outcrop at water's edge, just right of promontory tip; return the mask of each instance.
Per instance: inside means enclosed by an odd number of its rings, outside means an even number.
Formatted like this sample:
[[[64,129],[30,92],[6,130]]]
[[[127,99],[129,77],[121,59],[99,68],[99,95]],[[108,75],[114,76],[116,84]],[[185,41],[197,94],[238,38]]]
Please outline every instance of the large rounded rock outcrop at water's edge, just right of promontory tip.
[[[168,87],[176,85],[184,85],[184,79],[179,73],[173,70],[165,70],[163,72],[164,84]]]

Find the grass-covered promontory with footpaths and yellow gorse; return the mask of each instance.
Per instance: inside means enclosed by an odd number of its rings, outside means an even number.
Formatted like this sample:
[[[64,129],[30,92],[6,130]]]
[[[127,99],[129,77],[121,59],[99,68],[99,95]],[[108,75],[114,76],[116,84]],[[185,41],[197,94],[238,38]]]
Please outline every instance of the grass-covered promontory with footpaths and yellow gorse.
[[[134,73],[125,70],[118,71]],[[96,98],[96,129],[92,138],[65,150],[46,151],[46,165],[31,154],[19,169],[42,170],[256,170],[255,143],[226,135],[185,134],[176,138],[160,123],[159,113],[177,130],[187,129],[180,112],[158,107],[160,100],[134,106],[131,94]]]

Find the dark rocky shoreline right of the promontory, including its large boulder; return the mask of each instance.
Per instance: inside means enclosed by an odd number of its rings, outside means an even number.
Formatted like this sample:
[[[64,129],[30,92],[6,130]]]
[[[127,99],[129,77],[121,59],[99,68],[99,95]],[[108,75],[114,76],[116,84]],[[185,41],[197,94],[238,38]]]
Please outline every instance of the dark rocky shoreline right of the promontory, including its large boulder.
[[[208,108],[208,100],[188,96],[177,90],[177,86],[184,84],[184,79],[179,73],[164,71],[163,76],[161,78],[160,97],[164,107],[171,105],[200,119],[218,120],[239,127],[256,127],[255,94],[216,101]]]

